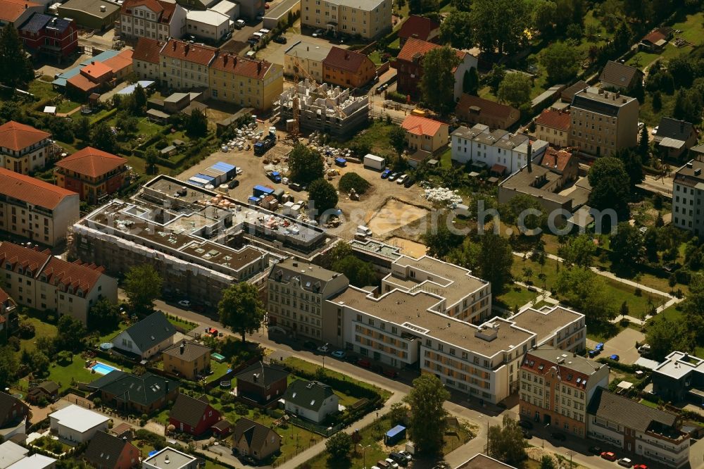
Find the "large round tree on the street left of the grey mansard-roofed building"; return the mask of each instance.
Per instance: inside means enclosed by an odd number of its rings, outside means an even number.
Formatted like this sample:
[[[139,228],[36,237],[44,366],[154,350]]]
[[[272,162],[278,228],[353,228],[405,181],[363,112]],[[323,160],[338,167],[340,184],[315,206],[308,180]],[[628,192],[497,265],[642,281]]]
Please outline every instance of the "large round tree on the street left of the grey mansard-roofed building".
[[[256,332],[264,320],[264,305],[257,287],[247,282],[227,287],[218,303],[218,315],[220,323],[242,335],[244,344],[245,334]]]

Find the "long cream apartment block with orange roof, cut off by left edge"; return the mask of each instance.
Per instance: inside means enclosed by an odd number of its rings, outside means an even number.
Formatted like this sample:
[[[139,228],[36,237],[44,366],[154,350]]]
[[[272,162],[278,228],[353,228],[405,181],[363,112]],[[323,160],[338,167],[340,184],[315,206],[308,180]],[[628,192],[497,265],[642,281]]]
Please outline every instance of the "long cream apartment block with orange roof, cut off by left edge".
[[[75,192],[0,168],[0,230],[56,246],[78,218]]]

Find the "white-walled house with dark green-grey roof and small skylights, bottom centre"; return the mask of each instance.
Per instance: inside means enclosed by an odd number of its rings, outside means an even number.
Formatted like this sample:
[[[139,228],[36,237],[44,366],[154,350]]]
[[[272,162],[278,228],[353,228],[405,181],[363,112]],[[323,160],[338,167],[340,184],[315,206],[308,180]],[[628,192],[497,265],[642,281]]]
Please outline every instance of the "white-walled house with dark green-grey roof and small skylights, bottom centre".
[[[295,380],[284,393],[284,408],[315,423],[338,411],[339,397],[327,384],[319,381]]]

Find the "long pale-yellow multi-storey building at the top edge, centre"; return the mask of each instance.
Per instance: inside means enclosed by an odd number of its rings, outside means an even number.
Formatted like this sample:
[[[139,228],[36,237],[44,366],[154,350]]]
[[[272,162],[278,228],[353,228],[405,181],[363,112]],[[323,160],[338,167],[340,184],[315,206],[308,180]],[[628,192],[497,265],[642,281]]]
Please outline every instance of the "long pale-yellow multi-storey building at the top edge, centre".
[[[301,0],[301,25],[374,39],[391,30],[391,0]]]

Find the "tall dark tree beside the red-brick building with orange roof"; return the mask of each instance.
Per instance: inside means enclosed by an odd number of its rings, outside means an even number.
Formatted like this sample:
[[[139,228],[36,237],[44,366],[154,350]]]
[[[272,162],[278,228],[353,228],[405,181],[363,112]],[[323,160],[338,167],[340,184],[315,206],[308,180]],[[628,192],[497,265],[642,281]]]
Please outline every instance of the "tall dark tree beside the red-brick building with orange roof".
[[[455,105],[453,69],[459,63],[460,58],[449,47],[427,51],[422,58],[423,73],[419,84],[422,100],[429,108],[443,115]]]

